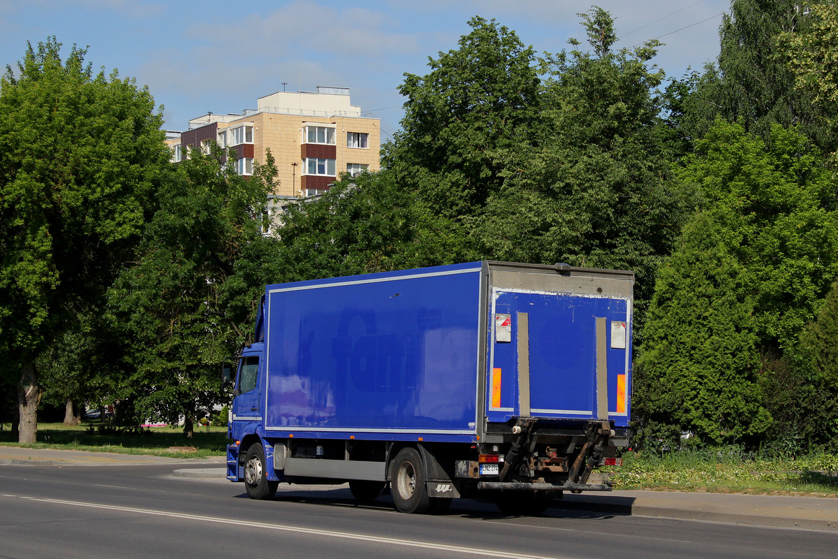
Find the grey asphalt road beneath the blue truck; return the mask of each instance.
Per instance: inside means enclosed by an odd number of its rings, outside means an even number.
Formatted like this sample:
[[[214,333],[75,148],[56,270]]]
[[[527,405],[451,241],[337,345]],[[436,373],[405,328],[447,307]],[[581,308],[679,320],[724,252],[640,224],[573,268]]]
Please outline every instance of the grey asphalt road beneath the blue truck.
[[[455,501],[402,515],[389,497],[282,485],[272,501],[241,484],[176,479],[177,465],[0,466],[0,557],[830,557],[838,534],[551,509],[509,518]]]

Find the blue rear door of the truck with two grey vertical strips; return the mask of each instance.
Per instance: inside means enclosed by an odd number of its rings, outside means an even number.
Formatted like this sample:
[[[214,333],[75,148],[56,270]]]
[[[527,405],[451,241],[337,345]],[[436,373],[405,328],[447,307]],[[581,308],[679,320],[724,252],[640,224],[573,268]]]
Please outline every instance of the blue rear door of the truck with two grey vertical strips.
[[[489,422],[629,418],[634,275],[489,263]]]

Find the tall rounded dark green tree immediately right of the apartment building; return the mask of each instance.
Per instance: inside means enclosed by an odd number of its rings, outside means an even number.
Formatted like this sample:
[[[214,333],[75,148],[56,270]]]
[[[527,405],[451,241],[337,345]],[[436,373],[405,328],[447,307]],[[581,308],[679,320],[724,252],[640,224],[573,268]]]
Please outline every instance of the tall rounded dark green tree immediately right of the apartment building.
[[[402,188],[453,219],[478,213],[503,183],[506,156],[530,145],[539,106],[534,51],[494,20],[468,24],[427,75],[405,75],[402,129],[382,150]]]

